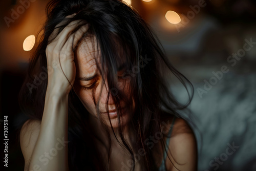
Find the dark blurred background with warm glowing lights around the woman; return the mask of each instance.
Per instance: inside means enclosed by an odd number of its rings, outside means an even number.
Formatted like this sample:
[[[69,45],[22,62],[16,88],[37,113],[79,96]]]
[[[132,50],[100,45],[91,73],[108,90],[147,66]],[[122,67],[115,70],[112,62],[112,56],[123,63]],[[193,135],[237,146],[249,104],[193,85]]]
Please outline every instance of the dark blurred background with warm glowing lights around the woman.
[[[8,169],[23,170],[17,129],[18,92],[48,1],[0,3],[0,125],[8,116]],[[256,2],[252,0],[125,1],[155,30],[166,55],[195,88],[198,170],[256,170]],[[181,101],[186,91],[170,88]],[[193,127],[196,130],[196,127]],[[1,158],[3,134],[1,131]],[[3,162],[1,168],[3,168]]]

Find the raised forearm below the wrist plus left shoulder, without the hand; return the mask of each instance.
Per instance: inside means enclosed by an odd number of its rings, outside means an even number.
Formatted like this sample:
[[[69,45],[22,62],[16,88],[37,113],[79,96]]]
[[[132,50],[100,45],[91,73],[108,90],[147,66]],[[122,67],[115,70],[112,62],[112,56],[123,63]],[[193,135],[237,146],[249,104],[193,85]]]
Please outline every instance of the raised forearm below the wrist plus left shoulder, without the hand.
[[[25,170],[68,170],[68,96],[47,95],[39,121],[27,121],[20,132]]]

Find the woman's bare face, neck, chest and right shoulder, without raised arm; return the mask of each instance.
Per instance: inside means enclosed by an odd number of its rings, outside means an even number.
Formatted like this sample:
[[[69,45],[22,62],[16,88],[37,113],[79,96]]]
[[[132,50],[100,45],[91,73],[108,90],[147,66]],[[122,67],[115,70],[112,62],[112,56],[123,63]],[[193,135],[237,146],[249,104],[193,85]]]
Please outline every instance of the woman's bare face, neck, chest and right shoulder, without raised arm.
[[[105,140],[106,137],[102,131],[102,127],[99,122],[97,122],[97,112],[95,108],[95,104],[93,101],[93,95],[92,92],[95,90],[95,99],[99,102],[99,109],[100,112],[106,112],[106,98],[108,95],[109,87],[108,87],[108,80],[105,78],[105,82],[102,79],[102,77],[99,74],[99,70],[96,66],[96,60],[99,63],[100,69],[101,69],[101,63],[100,63],[100,50],[96,50],[96,39],[93,37],[94,40],[91,38],[85,39],[81,42],[81,44],[77,47],[77,50],[75,52],[75,64],[76,64],[76,79],[74,83],[75,92],[82,101],[83,105],[86,107],[86,109],[91,114],[91,123],[94,126],[94,130],[98,130],[96,134],[99,135],[99,137],[102,137],[102,140]],[[94,46],[94,48],[93,48]],[[79,78],[83,77],[91,77],[98,73],[98,77],[96,79],[83,81]],[[122,76],[123,71],[119,71],[117,75],[120,77]],[[125,80],[121,79],[118,80],[120,82],[119,86],[120,88],[123,88],[123,90],[127,90],[127,84],[125,84]],[[94,82],[96,82],[96,86],[94,86],[93,89],[88,89]],[[129,84],[128,84],[129,85]],[[86,89],[84,89],[84,87]],[[100,94],[101,93],[101,94]],[[129,94],[129,92],[126,92],[126,94]],[[122,102],[121,102],[122,103]],[[125,106],[124,103],[122,103],[123,106]],[[113,97],[110,95],[109,98],[109,110],[115,109],[115,104],[113,101]],[[134,108],[134,103],[133,103]],[[127,112],[127,111],[126,111]],[[102,119],[105,121],[105,123],[110,127],[108,116],[105,114],[101,114]],[[124,116],[122,118],[122,126],[127,125],[129,121],[132,119],[133,115],[129,112],[124,113]],[[172,117],[168,118],[171,123]],[[168,120],[163,121],[167,121]],[[112,122],[112,126],[114,129],[118,127],[118,120],[117,118],[112,118],[110,120]],[[165,129],[170,129],[170,124],[165,125]],[[99,131],[100,130],[100,131]],[[115,130],[116,131],[116,130]],[[130,160],[130,156],[126,151],[123,151],[123,148],[117,143],[115,137],[112,134],[112,131],[110,131],[111,137],[112,137],[112,153],[111,153],[111,170],[121,170],[122,166],[121,163],[123,161]],[[118,135],[118,134],[116,134]],[[126,137],[129,144],[133,144],[133,138],[134,134],[129,133],[129,128],[126,127],[124,129],[124,137]],[[119,138],[119,137],[117,137]],[[119,139],[120,140],[120,139]],[[166,139],[164,138],[164,141]],[[155,146],[160,145],[159,142],[155,143]],[[98,148],[101,149],[102,155],[107,157],[108,151],[105,149],[102,144],[97,143]],[[132,146],[132,145],[131,145]],[[133,147],[133,146],[132,146]],[[167,170],[195,170],[196,163],[197,163],[197,147],[196,147],[196,140],[193,131],[190,129],[188,124],[185,122],[185,120],[181,118],[176,119],[175,126],[173,127],[172,132],[172,138],[170,138],[169,142],[169,148],[173,149],[172,152],[168,151],[168,155],[170,159],[172,159],[172,162],[166,158],[166,168]],[[157,165],[159,166],[162,162],[162,156],[163,151],[159,152],[156,151],[157,148],[153,148],[153,152],[155,154],[155,161]],[[120,155],[120,153],[122,155]],[[125,163],[125,162],[124,162]],[[106,163],[105,163],[106,164]],[[139,161],[135,165],[135,170],[143,170],[141,167],[141,164]],[[174,165],[177,167],[175,167]]]

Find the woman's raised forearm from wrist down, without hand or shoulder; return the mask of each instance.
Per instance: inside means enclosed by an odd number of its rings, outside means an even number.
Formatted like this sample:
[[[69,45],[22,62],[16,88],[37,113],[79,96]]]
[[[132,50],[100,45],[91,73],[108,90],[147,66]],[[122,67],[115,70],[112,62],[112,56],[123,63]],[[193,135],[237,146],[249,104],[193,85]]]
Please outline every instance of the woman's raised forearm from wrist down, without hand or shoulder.
[[[68,95],[47,91],[29,170],[68,170]]]

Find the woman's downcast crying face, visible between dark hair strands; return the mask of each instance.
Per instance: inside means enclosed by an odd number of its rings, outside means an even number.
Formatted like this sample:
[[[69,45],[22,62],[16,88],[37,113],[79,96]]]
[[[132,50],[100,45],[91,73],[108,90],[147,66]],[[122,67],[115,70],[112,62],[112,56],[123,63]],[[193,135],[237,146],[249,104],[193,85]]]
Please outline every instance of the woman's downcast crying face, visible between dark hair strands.
[[[94,48],[93,48],[94,46]],[[76,49],[75,52],[75,63],[76,63],[76,79],[74,83],[74,89],[76,94],[79,96],[85,108],[88,110],[90,114],[94,117],[97,116],[95,102],[99,104],[99,112],[102,119],[109,126],[109,118],[108,113],[106,113],[106,99],[108,98],[108,80],[102,79],[99,70],[96,66],[96,60],[101,66],[100,63],[100,52],[96,50],[96,39],[94,37],[94,41],[87,38],[82,41]],[[95,58],[96,56],[96,58]],[[123,74],[123,71],[119,71],[117,76],[120,78]],[[125,82],[126,81],[126,82]],[[127,79],[118,79],[117,90],[127,90]],[[101,95],[100,95],[101,93]],[[95,94],[95,97],[94,97]],[[129,92],[125,92],[125,94],[129,94]],[[132,109],[127,106],[124,101],[120,102],[121,108],[123,109],[123,116],[121,119],[121,125],[126,125],[133,116],[134,109],[134,100]],[[109,112],[110,119],[113,127],[118,127],[118,118],[116,112],[116,105],[113,101],[113,96],[110,93],[109,96]]]

